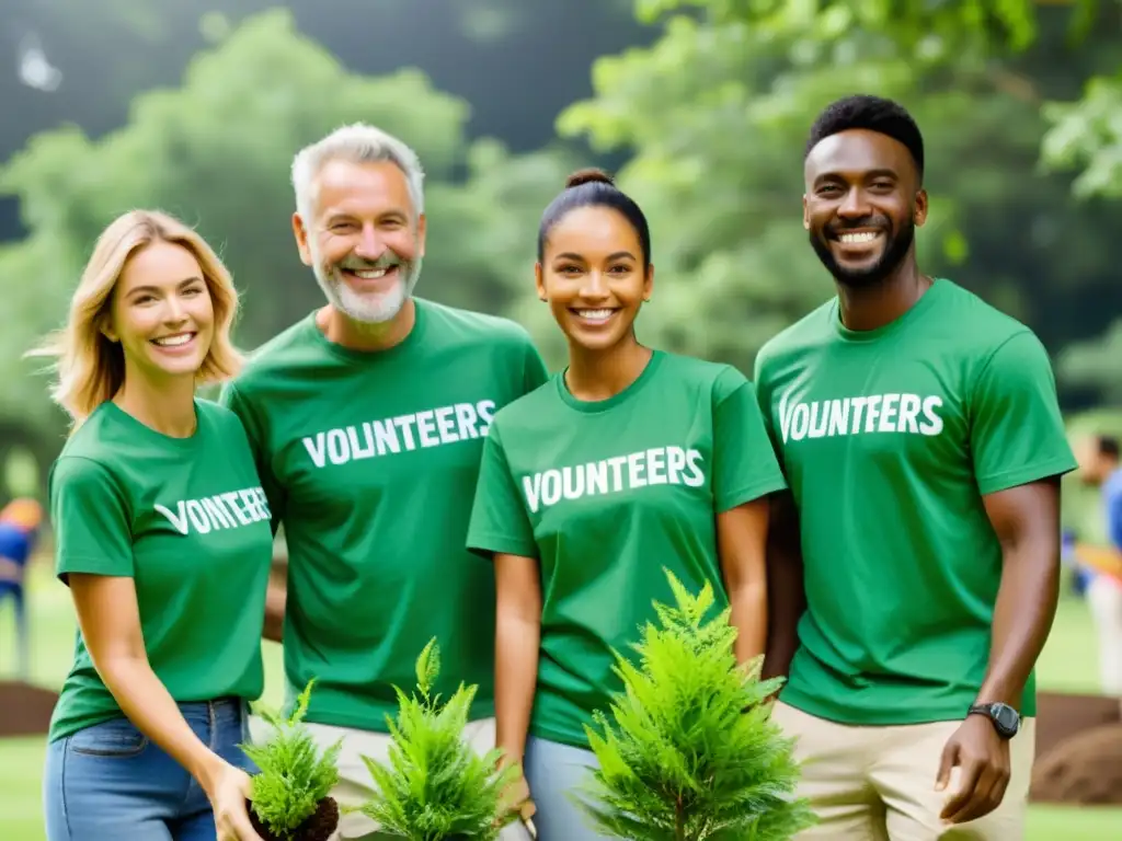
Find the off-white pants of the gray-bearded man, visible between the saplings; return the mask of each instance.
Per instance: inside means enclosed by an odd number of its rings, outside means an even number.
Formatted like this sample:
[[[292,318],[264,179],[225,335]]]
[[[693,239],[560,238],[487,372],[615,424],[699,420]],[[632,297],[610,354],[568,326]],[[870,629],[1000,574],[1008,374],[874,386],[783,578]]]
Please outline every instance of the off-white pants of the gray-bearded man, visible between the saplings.
[[[327,724],[307,724],[309,732],[320,748],[343,740],[339,752],[339,784],[331,795],[340,806],[361,806],[374,794],[374,780],[361,757],[366,756],[377,763],[389,759],[390,739],[386,733],[369,730],[352,730]],[[477,752],[486,754],[495,747],[495,719],[480,719],[468,722],[463,730],[463,739]],[[344,814],[339,821],[339,830],[330,841],[374,841],[378,825],[360,812]],[[528,831],[519,823],[504,828],[499,841],[530,841]]]

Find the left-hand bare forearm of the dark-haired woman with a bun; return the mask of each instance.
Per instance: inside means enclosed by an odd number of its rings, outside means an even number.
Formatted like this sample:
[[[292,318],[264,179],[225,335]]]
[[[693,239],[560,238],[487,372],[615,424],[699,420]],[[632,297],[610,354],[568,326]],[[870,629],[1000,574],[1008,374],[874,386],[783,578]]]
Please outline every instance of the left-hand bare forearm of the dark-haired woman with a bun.
[[[506,761],[521,763],[526,749],[540,643],[540,621],[499,612],[495,626],[495,727]]]

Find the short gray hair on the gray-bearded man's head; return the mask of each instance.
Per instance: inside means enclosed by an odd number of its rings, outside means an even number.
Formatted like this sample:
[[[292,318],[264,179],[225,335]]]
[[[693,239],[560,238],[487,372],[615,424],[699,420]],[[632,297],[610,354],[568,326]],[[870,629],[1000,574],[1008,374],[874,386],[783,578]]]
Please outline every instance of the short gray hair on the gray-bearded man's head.
[[[296,212],[311,222],[316,200],[320,172],[330,160],[351,164],[395,164],[405,174],[410,198],[416,215],[424,213],[424,170],[413,149],[374,126],[362,122],[335,129],[322,140],[305,146],[292,161],[292,186],[296,193]]]

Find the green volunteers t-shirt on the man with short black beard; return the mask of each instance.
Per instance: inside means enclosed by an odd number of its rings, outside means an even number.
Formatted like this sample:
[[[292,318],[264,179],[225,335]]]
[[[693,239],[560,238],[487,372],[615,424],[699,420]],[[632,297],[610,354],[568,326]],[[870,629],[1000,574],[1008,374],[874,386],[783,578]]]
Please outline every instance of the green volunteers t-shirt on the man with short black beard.
[[[781,697],[852,724],[962,719],[1002,570],[982,498],[1076,464],[1045,349],[939,279],[879,330],[828,302],[764,345],[755,379],[801,517],[808,609]]]

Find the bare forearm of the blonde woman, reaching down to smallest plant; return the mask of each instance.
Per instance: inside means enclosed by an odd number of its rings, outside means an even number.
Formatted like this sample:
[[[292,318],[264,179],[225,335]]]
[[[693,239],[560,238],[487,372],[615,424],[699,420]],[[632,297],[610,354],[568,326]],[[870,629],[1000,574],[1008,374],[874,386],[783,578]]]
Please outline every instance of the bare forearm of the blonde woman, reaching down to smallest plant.
[[[148,662],[114,657],[98,671],[129,721],[209,791],[222,760],[195,736]]]

